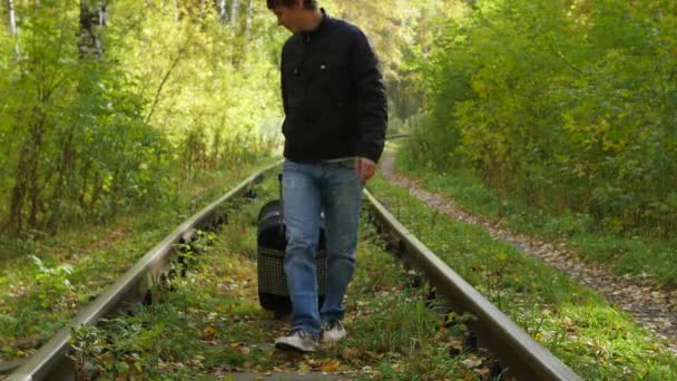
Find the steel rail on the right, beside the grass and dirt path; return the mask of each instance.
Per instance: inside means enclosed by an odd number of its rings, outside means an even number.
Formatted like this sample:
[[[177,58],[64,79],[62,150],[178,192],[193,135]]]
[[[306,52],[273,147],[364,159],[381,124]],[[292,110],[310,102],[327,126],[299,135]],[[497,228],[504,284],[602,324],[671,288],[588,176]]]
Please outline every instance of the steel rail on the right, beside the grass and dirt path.
[[[364,195],[380,222],[398,237],[399,248],[420,268],[455,311],[477,316],[468,324],[482,345],[498,355],[508,372],[520,380],[581,380],[546,348],[514,324],[472,285],[465,282],[430,248],[410,233],[369,190]]]

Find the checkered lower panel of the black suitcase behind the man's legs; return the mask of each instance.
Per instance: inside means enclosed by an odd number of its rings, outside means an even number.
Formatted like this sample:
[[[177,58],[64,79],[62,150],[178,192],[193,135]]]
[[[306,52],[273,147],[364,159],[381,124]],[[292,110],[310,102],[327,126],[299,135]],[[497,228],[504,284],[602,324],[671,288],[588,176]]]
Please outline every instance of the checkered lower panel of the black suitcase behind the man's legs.
[[[284,251],[258,246],[257,253],[258,292],[290,296],[287,277],[284,273]],[[317,285],[324,295],[326,284],[326,251],[317,252]]]

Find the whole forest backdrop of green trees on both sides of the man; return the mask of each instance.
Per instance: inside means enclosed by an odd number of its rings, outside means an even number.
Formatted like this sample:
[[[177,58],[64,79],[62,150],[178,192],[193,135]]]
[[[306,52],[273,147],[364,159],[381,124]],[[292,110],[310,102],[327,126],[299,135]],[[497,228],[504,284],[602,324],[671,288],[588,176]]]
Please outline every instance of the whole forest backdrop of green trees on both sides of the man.
[[[405,168],[477,176],[498,218],[632,245],[677,283],[677,4],[322,1],[372,38]],[[277,153],[279,49],[256,0],[3,0],[0,235],[171,205]],[[649,243],[646,246],[645,243]],[[647,252],[648,251],[648,252]]]

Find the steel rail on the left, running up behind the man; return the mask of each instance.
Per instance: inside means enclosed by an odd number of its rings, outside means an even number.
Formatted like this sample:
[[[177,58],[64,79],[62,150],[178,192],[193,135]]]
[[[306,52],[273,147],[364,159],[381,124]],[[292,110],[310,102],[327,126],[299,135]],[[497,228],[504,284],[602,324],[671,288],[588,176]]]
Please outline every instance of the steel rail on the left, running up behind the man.
[[[48,377],[50,380],[63,378],[72,379],[72,375],[68,377],[69,373],[72,374],[72,369],[70,369],[69,363],[63,361],[67,351],[70,349],[68,343],[70,339],[70,329],[82,325],[94,325],[99,319],[114,311],[115,307],[137,291],[139,284],[147,274],[157,274],[165,267],[173,254],[173,248],[181,240],[184,234],[194,228],[203,228],[209,225],[213,219],[217,217],[215,216],[215,212],[218,206],[233,197],[242,196],[247,193],[267,172],[277,166],[279,166],[279,162],[249,176],[230,192],[181,223],[174,232],[148,251],[101,295],[80,311],[80,313],[70,321],[68,326],[61,329],[42,345],[35,355],[10,374],[8,381],[43,380]]]

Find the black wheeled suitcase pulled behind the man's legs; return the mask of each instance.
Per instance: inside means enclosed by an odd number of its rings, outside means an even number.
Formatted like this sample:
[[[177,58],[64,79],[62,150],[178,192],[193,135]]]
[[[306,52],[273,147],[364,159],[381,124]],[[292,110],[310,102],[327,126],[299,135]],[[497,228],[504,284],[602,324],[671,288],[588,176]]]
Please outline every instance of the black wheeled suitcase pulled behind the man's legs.
[[[278,176],[282,179],[282,175]],[[282,199],[282,184],[281,198]],[[257,276],[258,302],[264,310],[274,311],[278,315],[292,311],[292,301],[284,272],[284,255],[286,248],[283,208],[279,199],[265,204],[258,212],[257,233]],[[320,241],[316,252],[317,295],[322,306],[326,286],[326,243],[324,224],[321,223]]]

